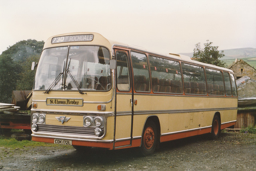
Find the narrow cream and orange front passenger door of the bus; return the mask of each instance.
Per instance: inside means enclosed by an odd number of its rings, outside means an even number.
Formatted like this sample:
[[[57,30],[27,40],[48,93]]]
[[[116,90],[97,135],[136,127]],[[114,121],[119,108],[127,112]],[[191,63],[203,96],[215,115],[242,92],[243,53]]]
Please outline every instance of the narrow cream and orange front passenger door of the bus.
[[[116,55],[116,126],[114,148],[132,145],[133,83],[129,52],[115,49]]]

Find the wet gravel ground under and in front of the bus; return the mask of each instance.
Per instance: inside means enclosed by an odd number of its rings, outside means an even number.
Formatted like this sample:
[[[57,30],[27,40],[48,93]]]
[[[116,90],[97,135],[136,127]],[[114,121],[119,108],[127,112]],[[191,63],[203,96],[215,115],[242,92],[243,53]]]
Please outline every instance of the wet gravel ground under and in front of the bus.
[[[161,143],[153,155],[138,148],[78,152],[71,146],[0,147],[0,170],[28,171],[256,171],[256,135],[225,132]]]

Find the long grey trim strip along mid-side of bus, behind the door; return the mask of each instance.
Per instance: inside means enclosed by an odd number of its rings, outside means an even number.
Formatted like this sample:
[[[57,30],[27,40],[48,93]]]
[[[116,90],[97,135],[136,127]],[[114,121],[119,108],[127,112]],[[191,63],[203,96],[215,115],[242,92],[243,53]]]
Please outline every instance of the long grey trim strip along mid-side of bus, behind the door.
[[[139,114],[176,114],[176,113],[190,113],[190,112],[206,112],[206,111],[218,111],[218,110],[237,110],[237,108],[206,108],[206,109],[186,109],[186,110],[146,110],[146,111],[134,111],[134,115]]]

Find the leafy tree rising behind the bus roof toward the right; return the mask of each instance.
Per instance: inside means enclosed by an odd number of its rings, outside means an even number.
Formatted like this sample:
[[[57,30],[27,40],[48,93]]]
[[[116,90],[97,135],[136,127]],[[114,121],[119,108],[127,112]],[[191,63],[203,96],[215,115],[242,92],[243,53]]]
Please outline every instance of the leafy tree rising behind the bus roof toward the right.
[[[200,43],[196,44],[192,59],[219,67],[225,67],[225,63],[220,61],[220,58],[224,57],[224,51],[218,51],[218,46],[212,46],[212,42],[209,40],[206,41],[207,43],[204,43],[204,49],[201,49]]]

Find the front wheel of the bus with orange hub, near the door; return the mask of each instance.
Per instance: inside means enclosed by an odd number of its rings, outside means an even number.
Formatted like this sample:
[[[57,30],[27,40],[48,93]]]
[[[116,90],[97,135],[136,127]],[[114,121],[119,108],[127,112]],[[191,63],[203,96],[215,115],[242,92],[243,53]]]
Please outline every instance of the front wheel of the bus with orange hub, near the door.
[[[153,121],[148,120],[144,126],[142,133],[142,143],[140,146],[142,155],[147,156],[154,153],[157,142],[158,135],[156,124]]]

